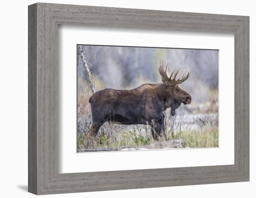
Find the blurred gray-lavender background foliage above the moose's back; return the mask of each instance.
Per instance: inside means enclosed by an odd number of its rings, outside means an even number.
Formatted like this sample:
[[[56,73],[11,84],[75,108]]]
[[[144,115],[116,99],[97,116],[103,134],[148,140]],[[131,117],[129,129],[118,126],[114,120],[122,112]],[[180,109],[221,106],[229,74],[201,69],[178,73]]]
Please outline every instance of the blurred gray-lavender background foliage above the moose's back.
[[[181,87],[189,91],[193,101],[206,102],[209,90],[218,91],[217,50],[84,45],[83,51],[97,90],[133,89],[142,83],[160,83],[157,62],[164,59],[170,62],[170,70],[179,65],[179,75],[188,68],[192,71]],[[87,80],[81,61],[78,77]]]

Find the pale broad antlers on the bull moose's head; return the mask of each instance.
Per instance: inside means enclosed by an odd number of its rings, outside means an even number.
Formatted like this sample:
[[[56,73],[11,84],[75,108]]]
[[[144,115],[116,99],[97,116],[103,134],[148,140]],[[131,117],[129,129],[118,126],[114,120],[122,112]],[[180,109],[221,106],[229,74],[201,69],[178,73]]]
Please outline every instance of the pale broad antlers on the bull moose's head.
[[[164,69],[165,67],[165,69]],[[167,69],[169,68],[169,63],[166,64],[165,61],[163,60],[160,60],[159,61],[159,67],[158,67],[158,71],[162,77],[162,82],[166,85],[175,85],[175,84],[180,84],[180,83],[183,83],[185,80],[187,80],[189,78],[189,75],[190,75],[190,71],[188,70],[187,74],[183,74],[183,76],[181,77],[181,79],[179,78],[178,80],[175,80],[178,72],[179,72],[179,68],[175,68],[173,70],[173,72],[171,73],[171,76],[168,77],[167,75]],[[173,77],[174,75],[174,77]],[[172,79],[173,77],[173,79]]]

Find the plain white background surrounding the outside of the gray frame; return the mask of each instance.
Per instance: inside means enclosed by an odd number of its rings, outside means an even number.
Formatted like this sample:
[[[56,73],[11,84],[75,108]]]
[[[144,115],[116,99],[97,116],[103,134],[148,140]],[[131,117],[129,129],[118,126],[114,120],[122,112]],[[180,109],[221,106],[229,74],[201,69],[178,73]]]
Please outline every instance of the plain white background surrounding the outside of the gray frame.
[[[27,5],[34,0],[2,1],[0,30],[0,196],[32,197],[27,192]],[[108,192],[51,195],[51,197],[256,197],[256,12],[252,0],[45,0],[49,3],[217,13],[250,16],[250,182],[192,185]]]

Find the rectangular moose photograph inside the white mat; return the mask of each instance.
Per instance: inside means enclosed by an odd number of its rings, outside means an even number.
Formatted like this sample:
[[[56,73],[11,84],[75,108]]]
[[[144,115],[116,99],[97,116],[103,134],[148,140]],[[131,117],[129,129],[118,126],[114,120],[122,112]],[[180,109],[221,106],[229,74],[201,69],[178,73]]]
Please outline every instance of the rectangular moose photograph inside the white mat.
[[[216,49],[77,45],[77,152],[219,146]]]

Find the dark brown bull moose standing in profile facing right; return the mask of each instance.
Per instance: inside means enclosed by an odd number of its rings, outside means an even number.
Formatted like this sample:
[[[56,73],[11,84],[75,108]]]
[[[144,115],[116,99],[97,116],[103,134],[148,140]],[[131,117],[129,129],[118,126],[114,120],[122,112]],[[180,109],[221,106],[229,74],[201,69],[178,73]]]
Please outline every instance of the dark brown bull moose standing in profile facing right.
[[[163,112],[171,108],[171,115],[175,115],[175,109],[181,103],[191,102],[191,96],[178,86],[189,78],[190,71],[175,80],[179,69],[173,70],[170,77],[167,69],[168,64],[160,61],[158,70],[162,83],[146,83],[131,90],[103,89],[95,92],[89,99],[92,123],[88,137],[94,138],[101,125],[108,121],[109,124],[148,124],[154,140],[166,141]]]

